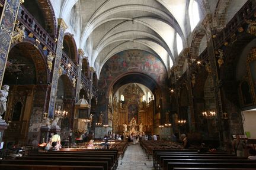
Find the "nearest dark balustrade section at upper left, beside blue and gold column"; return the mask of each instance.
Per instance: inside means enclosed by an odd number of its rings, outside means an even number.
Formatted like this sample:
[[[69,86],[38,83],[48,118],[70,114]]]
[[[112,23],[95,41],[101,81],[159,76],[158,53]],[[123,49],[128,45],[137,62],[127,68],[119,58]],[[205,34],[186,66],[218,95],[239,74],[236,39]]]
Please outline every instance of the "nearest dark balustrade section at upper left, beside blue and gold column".
[[[56,42],[52,37],[44,30],[43,27],[36,21],[34,17],[24,8],[23,5],[20,6],[18,20],[23,24],[31,33],[40,40],[48,49],[55,53]],[[30,32],[29,32],[30,33]],[[28,34],[29,34],[28,33]]]

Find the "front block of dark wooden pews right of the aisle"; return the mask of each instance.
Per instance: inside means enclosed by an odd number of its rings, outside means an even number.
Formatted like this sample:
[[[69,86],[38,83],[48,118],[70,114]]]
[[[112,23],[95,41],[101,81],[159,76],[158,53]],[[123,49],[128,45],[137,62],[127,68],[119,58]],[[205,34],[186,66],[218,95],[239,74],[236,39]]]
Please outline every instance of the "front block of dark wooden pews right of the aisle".
[[[252,170],[256,169],[256,160],[222,152],[198,153],[194,150],[153,149],[153,166],[161,170]]]

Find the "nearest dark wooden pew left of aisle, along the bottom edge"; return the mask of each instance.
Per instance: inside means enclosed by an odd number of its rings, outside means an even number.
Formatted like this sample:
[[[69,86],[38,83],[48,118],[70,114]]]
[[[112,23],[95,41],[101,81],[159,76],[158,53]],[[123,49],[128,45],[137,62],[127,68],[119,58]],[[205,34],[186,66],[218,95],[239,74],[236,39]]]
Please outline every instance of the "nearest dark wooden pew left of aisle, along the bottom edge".
[[[3,170],[104,170],[103,166],[69,166],[69,165],[15,165],[0,164]]]

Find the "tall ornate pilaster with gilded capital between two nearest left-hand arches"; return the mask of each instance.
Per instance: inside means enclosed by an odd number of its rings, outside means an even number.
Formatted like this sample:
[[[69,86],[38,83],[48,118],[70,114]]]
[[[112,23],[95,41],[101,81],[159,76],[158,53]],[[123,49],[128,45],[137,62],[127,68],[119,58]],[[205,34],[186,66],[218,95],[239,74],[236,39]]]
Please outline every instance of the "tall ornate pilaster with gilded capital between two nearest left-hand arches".
[[[59,80],[59,69],[60,69],[60,59],[62,57],[62,45],[65,30],[68,26],[65,24],[62,18],[58,19],[58,38],[57,38],[57,47],[56,47],[56,57],[55,57],[55,66],[53,68],[53,76],[52,76],[52,89],[50,92],[50,101],[49,101],[49,109],[48,109],[48,118],[53,119],[55,113],[55,102],[56,102],[56,93],[57,93],[57,83]]]

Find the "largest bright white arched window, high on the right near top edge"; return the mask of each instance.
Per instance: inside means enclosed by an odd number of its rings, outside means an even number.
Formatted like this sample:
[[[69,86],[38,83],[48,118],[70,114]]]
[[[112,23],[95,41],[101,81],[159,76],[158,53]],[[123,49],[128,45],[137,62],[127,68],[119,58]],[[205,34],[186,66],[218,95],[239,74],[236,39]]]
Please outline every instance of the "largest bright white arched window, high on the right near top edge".
[[[199,5],[196,1],[190,1],[189,6],[189,17],[190,17],[190,27],[191,31],[196,28],[196,25],[200,21],[200,14],[199,14]]]

